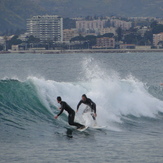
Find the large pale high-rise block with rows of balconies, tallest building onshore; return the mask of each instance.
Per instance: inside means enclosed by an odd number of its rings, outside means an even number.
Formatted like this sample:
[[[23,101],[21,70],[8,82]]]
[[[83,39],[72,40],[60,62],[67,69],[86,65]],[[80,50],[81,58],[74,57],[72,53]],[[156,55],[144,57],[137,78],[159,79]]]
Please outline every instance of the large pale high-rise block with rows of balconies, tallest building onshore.
[[[27,32],[43,41],[63,41],[63,19],[58,15],[33,16],[27,20]]]

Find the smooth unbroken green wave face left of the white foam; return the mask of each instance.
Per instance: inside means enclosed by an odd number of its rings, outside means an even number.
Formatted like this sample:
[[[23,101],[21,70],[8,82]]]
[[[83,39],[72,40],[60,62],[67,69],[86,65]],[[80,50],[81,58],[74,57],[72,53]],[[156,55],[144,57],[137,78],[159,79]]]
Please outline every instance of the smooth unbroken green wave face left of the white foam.
[[[26,130],[38,122],[49,121],[51,114],[30,80],[1,80],[0,90],[1,131],[9,131],[9,128]]]

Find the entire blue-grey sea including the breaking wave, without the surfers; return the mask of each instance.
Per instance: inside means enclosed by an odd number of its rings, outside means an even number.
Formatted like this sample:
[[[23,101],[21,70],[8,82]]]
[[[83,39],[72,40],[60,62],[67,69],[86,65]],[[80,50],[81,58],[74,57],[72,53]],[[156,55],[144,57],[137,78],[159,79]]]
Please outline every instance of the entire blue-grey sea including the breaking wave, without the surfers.
[[[0,54],[0,163],[162,163],[163,53]],[[56,97],[80,106],[80,132]]]

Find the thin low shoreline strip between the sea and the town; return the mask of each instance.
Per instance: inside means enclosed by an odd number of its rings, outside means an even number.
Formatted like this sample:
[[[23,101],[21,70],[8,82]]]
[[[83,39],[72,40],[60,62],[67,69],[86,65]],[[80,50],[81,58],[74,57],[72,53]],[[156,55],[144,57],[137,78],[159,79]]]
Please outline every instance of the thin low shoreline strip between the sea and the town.
[[[0,54],[10,53],[33,53],[33,54],[68,54],[68,53],[148,53],[163,52],[163,49],[74,49],[74,50],[19,50],[1,51]]]

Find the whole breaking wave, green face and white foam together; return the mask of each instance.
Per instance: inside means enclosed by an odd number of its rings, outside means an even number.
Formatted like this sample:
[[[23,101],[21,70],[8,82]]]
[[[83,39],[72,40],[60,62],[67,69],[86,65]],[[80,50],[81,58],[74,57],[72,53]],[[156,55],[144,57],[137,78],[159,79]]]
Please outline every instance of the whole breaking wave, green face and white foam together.
[[[86,94],[97,105],[97,122],[117,130],[115,124],[128,123],[135,117],[159,118],[163,113],[163,90],[146,86],[133,76],[121,79],[117,73],[105,73],[90,60],[83,62],[85,73],[78,82],[56,82],[37,77],[25,81],[6,79],[0,81],[1,130],[6,127],[26,130],[41,122],[54,126],[67,124],[66,116],[55,121],[59,111],[56,97],[61,96],[74,110]],[[81,105],[76,120],[83,122]],[[89,117],[90,118],[90,117]],[[91,119],[91,118],[90,118]],[[37,125],[36,125],[37,126]]]

